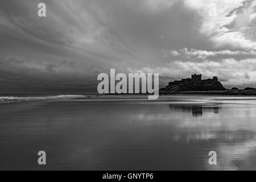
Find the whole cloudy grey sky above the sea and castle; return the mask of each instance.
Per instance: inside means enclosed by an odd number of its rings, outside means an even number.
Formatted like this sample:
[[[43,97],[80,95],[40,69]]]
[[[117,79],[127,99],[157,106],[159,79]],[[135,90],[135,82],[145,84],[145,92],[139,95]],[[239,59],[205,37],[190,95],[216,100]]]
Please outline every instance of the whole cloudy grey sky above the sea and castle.
[[[0,27],[0,93],[93,92],[110,68],[256,87],[256,1],[9,0]]]

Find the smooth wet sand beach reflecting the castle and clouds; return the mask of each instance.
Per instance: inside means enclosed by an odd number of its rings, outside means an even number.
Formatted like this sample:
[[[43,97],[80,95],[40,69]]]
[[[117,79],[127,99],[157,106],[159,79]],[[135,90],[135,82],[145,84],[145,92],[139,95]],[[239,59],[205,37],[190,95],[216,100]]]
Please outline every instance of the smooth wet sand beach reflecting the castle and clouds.
[[[256,98],[109,96],[0,104],[0,169],[256,169]],[[47,165],[38,165],[38,151]],[[217,165],[209,165],[209,151]]]

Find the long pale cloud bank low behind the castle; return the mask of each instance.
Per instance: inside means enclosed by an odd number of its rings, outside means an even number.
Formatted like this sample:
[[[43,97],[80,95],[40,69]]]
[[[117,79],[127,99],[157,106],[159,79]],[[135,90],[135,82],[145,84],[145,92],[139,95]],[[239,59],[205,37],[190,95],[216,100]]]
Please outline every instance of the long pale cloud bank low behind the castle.
[[[256,59],[237,61],[235,59],[224,59],[221,61],[202,62],[174,61],[162,67],[131,69],[129,72],[159,73],[162,78],[185,78],[193,73],[201,73],[203,77],[218,76],[224,86],[237,86],[256,84]],[[167,84],[167,79],[164,80]]]

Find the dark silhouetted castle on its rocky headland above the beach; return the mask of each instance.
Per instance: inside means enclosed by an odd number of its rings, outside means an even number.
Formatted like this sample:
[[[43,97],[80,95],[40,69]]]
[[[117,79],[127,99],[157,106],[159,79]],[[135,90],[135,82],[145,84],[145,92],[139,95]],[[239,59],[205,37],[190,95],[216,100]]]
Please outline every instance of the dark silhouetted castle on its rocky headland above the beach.
[[[202,75],[191,75],[191,78],[185,78],[169,82],[166,88],[160,91],[168,92],[182,92],[182,91],[209,91],[209,90],[226,90],[218,81],[218,77],[214,76],[212,79],[202,80]]]

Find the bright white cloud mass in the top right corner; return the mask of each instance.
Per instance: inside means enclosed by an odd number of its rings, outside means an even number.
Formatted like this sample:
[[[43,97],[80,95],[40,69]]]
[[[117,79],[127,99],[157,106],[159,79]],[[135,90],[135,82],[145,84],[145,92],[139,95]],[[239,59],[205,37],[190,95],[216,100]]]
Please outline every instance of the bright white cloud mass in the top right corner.
[[[209,2],[203,0],[185,1],[187,7],[199,12],[203,17],[201,32],[209,36],[216,47],[232,46],[233,48],[256,49],[255,38],[247,37],[243,28],[253,28],[253,11],[256,2],[244,0],[213,0],[216,4],[216,16],[209,16]],[[251,16],[253,15],[253,16]],[[250,34],[251,35],[251,34]]]

